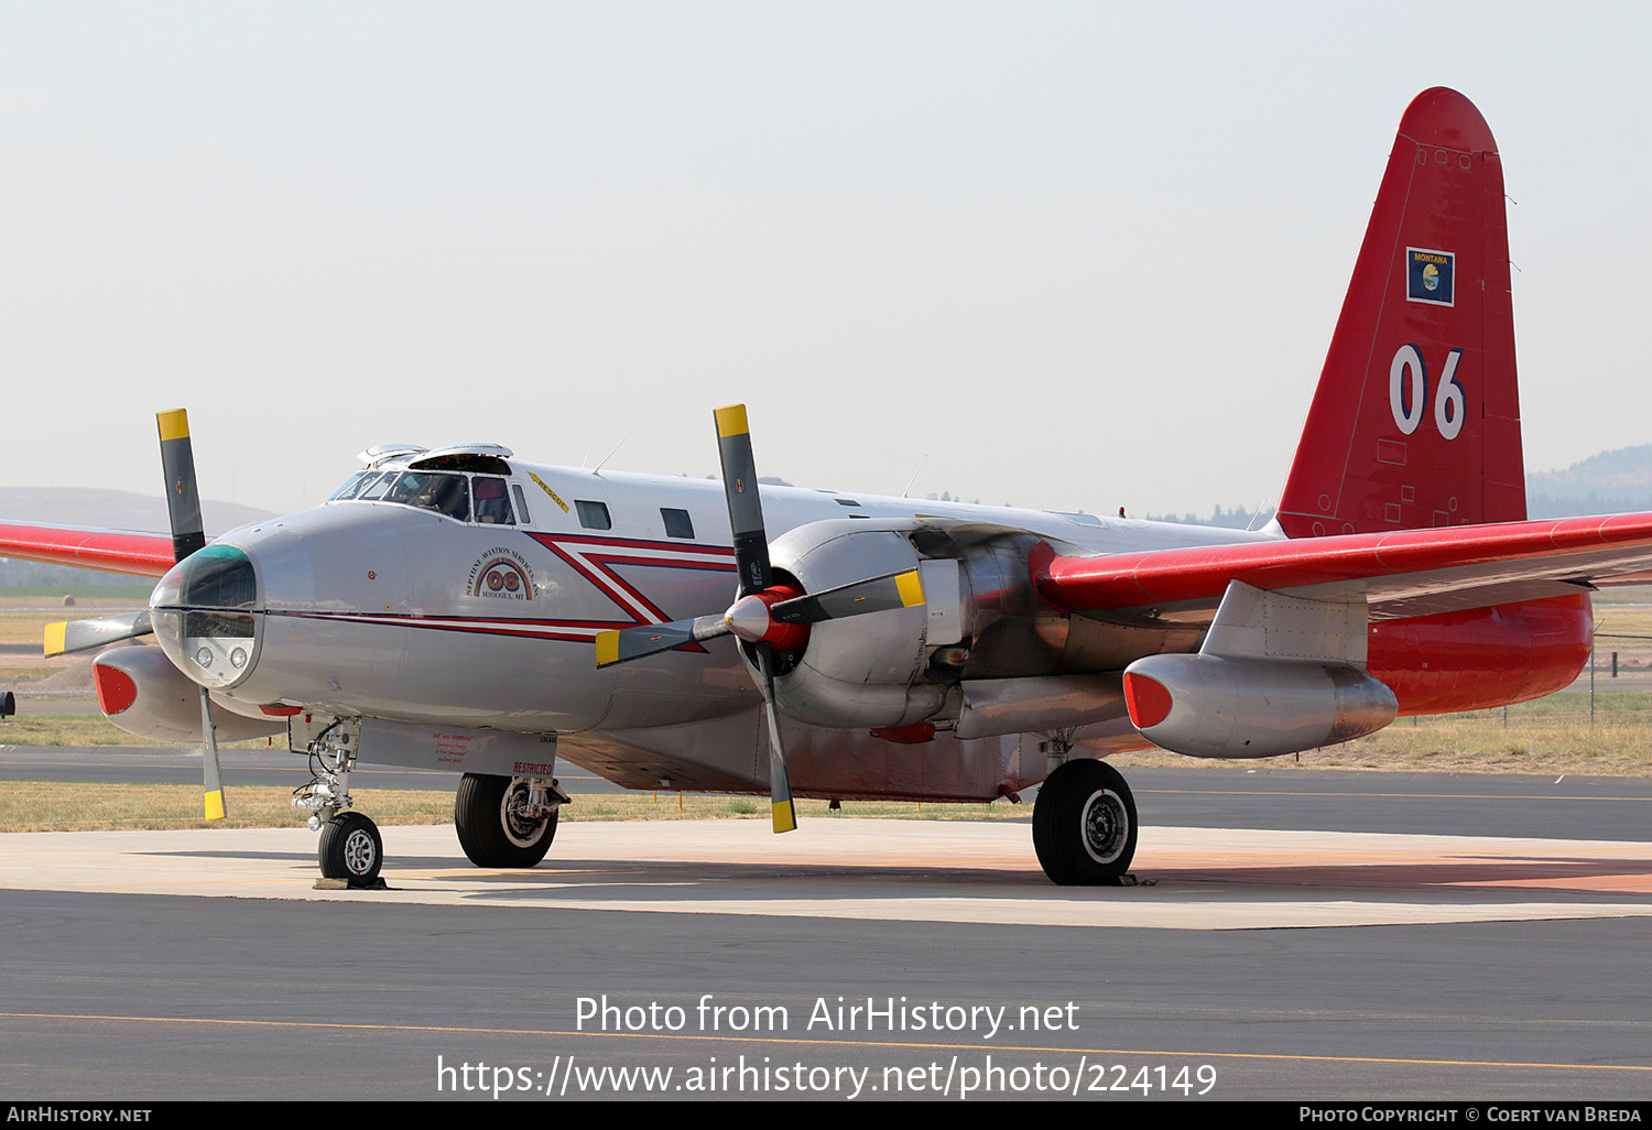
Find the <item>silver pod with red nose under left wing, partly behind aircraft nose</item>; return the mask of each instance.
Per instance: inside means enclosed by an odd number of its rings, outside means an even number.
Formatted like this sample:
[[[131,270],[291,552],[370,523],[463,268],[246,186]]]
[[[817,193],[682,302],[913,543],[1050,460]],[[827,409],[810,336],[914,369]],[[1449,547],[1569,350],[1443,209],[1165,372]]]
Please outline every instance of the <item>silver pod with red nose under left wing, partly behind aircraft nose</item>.
[[[152,742],[202,740],[202,691],[155,646],[109,648],[93,659],[97,705],[127,734]],[[213,699],[213,730],[220,742],[286,734],[286,719],[240,714],[244,702]]]

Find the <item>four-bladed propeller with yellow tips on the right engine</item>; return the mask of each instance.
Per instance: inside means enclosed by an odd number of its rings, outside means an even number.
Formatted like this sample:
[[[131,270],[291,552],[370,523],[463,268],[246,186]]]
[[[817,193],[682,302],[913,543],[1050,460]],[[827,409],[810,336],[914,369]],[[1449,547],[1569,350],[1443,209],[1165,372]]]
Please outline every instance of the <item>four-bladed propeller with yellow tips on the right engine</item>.
[[[729,501],[729,525],[733,530],[733,560],[740,575],[738,595],[722,615],[605,631],[596,636],[596,666],[629,662],[719,636],[732,634],[745,641],[757,666],[757,689],[763,696],[763,715],[768,720],[770,814],[775,831],[786,833],[798,826],[798,816],[791,803],[785,742],[780,737],[775,651],[801,651],[809,638],[809,624],[922,605],[923,585],[915,568],[819,593],[805,593],[790,583],[776,585],[745,405],[719,408],[715,420],[724,497]]]

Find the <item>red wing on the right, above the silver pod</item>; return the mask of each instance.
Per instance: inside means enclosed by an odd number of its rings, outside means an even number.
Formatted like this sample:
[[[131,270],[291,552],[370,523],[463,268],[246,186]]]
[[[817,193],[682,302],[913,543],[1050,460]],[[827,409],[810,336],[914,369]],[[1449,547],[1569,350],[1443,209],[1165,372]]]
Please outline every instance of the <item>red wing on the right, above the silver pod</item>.
[[[1363,593],[1373,618],[1393,620],[1576,593],[1649,567],[1652,514],[1616,514],[1052,557],[1034,580],[1079,613],[1158,608],[1196,621],[1237,580],[1327,600]]]

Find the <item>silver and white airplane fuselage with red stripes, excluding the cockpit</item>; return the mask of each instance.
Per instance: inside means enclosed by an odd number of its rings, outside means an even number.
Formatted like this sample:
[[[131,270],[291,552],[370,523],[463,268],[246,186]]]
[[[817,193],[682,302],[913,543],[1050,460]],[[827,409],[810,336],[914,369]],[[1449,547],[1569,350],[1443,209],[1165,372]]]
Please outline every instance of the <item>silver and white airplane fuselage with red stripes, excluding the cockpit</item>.
[[[225,667],[215,696],[243,709],[553,732],[567,757],[626,785],[762,790],[760,697],[730,639],[593,662],[600,631],[720,611],[733,598],[722,484],[522,461],[510,461],[509,482],[514,510],[527,510],[512,524],[337,501],[220,537],[221,552],[246,555],[256,596],[243,608],[251,654]],[[796,487],[765,486],[762,497],[771,539],[826,520],[915,517],[1013,527],[1084,552],[1270,537]],[[667,535],[662,509],[686,514],[692,537]],[[608,529],[582,524],[591,514]],[[681,514],[672,519],[684,532]],[[904,748],[864,730],[798,729],[801,795],[986,800],[1044,773],[1021,735],[943,734]],[[1127,720],[1092,737],[1135,738],[1125,732]]]

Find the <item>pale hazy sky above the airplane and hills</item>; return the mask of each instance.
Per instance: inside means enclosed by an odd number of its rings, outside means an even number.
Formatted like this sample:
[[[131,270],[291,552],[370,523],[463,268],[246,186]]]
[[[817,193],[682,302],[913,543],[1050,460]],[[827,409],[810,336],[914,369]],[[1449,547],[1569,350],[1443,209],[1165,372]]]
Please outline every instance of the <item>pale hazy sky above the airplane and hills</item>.
[[[1645,5],[0,3],[0,484],[380,441],[1274,499],[1409,99],[1490,121],[1526,463],[1652,441]],[[0,504],[3,517],[3,504]]]

